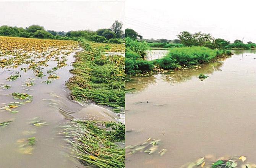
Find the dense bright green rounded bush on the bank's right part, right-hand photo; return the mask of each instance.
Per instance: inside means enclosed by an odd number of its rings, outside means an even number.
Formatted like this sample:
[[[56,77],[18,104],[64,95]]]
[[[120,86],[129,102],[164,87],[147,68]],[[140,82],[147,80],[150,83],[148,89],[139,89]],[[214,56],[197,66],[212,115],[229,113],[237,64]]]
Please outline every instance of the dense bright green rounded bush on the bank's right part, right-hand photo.
[[[181,66],[204,64],[217,56],[217,50],[207,47],[181,47],[170,49],[167,56],[156,60],[160,68],[175,69]]]

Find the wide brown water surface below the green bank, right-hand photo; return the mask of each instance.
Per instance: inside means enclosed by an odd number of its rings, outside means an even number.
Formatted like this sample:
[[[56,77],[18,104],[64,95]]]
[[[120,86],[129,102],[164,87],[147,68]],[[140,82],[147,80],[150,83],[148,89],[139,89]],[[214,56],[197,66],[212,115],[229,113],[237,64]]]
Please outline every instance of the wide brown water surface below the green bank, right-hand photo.
[[[244,51],[199,69],[127,82],[135,90],[126,94],[126,146],[161,141],[150,155],[126,153],[126,168],[179,168],[206,155],[256,162],[254,58],[255,51]],[[209,78],[200,81],[201,73]]]

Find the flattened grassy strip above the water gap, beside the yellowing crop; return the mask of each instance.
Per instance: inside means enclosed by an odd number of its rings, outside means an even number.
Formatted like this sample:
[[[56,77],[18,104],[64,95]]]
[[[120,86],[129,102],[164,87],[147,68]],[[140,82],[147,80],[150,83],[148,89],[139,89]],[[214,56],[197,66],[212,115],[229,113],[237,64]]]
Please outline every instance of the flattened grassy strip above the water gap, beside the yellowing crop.
[[[84,51],[76,54],[74,75],[66,83],[71,99],[93,102],[110,107],[125,106],[125,58],[106,56],[104,52],[122,52],[122,44],[81,41]]]

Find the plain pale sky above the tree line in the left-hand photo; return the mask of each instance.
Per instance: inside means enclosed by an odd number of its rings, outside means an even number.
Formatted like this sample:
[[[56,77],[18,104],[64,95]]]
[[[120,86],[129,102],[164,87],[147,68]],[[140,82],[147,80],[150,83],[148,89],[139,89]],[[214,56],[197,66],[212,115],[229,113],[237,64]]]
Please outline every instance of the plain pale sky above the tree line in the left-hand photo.
[[[44,26],[46,30],[97,30],[124,22],[124,0],[87,2],[0,2],[0,26]]]

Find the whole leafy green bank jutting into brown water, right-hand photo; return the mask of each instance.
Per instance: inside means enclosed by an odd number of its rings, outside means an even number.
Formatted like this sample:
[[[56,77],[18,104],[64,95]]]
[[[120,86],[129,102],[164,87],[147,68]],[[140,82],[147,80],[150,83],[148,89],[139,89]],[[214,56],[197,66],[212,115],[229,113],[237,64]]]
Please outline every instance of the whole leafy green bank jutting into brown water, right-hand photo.
[[[130,39],[128,39],[130,41]],[[145,45],[145,46],[143,46]],[[162,69],[174,70],[182,67],[202,65],[220,57],[231,55],[230,51],[210,49],[207,47],[175,47],[158,60],[146,60],[147,43],[129,42],[125,52],[125,73],[128,75],[148,74]],[[135,50],[135,49],[136,50]],[[138,49],[139,48],[139,49]],[[139,51],[139,52],[138,52]],[[143,54],[141,54],[143,53]]]

